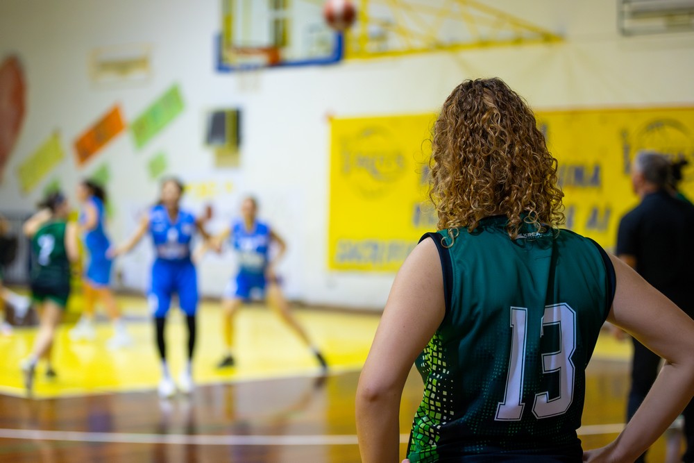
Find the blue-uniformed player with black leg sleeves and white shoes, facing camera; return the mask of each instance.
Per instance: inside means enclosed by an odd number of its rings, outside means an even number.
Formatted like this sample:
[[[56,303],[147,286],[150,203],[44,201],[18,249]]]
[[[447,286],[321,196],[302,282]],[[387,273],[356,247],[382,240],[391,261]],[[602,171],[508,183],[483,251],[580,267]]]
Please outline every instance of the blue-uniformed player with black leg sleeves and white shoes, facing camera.
[[[162,360],[162,380],[159,383],[159,394],[162,397],[173,396],[176,385],[171,379],[167,364],[164,326],[171,296],[178,296],[181,310],[185,312],[188,326],[188,362],[180,374],[178,387],[181,392],[192,392],[192,360],[195,348],[196,310],[198,307],[198,281],[195,266],[191,260],[190,246],[192,238],[198,231],[205,239],[201,219],[196,219],[191,212],[179,207],[183,194],[183,183],[168,178],[162,183],[161,199],[158,205],[149,210],[142,219],[137,231],[126,244],[114,251],[120,255],[133,249],[146,233],[152,237],[156,258],[152,264],[151,286],[148,299],[153,313],[159,354]]]

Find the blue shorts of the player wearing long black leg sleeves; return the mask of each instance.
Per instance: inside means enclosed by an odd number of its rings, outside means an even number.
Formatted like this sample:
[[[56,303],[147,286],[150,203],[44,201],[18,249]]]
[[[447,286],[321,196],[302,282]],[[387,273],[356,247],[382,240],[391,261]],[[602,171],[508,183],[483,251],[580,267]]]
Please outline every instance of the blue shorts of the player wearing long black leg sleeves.
[[[152,265],[149,305],[155,318],[166,317],[171,296],[178,295],[178,304],[186,315],[198,308],[198,275],[193,262],[157,259]]]

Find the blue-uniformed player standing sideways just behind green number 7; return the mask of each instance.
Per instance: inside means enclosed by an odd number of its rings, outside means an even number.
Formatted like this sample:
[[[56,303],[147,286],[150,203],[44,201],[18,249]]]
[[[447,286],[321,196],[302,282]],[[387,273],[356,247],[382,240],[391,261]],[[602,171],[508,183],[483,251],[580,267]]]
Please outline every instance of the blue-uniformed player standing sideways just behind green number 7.
[[[70,331],[70,338],[94,339],[94,303],[103,303],[113,323],[113,337],[108,340],[110,348],[128,346],[132,338],[128,334],[116,298],[110,289],[112,260],[107,255],[111,246],[105,231],[106,192],[101,185],[92,180],[83,180],[77,187],[77,199],[82,204],[78,227],[83,235],[85,251],[88,255],[86,271],[83,276],[84,311],[81,319]]]

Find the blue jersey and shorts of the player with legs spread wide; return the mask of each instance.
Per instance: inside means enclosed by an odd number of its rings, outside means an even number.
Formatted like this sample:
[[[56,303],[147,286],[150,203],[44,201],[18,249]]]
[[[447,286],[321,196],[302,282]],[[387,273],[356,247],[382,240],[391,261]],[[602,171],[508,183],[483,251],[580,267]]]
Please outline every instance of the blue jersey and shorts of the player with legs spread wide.
[[[253,229],[248,231],[244,221],[235,221],[231,228],[230,242],[237,255],[239,271],[228,285],[225,296],[248,300],[253,289],[264,294],[271,242],[270,227],[261,221],[255,221]]]

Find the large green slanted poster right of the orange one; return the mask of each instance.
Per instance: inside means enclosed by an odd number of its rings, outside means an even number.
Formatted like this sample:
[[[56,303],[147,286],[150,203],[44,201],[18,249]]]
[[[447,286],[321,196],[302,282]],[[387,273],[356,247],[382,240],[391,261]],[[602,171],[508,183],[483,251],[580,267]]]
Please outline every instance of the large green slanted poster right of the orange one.
[[[149,140],[152,140],[181,112],[183,112],[183,98],[178,85],[174,85],[144,110],[133,124],[130,124],[137,149],[141,149]]]

